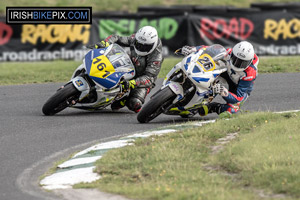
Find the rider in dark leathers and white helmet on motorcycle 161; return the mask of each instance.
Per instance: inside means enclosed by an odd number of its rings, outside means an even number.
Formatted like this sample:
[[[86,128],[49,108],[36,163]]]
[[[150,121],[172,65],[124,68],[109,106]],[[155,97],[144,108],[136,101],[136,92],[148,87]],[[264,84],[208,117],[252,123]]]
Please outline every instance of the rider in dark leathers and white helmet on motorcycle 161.
[[[131,88],[129,96],[113,102],[111,108],[118,110],[127,106],[129,110],[137,113],[141,110],[147,94],[155,86],[163,62],[162,42],[154,27],[144,26],[131,36],[110,35],[93,47],[104,48],[112,43],[130,47],[129,56],[136,74],[132,80],[121,82],[124,89]]]

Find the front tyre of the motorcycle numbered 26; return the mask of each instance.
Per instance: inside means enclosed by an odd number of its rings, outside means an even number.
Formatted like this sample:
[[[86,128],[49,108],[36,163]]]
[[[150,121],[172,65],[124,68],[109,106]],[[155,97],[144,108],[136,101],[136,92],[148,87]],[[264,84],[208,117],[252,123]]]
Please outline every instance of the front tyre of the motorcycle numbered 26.
[[[147,123],[153,120],[164,111],[164,108],[173,102],[176,96],[177,95],[169,87],[165,87],[142,107],[142,110],[137,116],[137,120],[140,123]]]

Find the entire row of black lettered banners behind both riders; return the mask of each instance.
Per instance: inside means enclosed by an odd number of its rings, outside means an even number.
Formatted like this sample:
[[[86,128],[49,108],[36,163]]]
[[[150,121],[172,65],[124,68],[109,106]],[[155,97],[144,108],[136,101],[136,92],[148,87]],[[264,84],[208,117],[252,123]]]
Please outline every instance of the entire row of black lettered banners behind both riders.
[[[259,55],[300,55],[299,12],[193,12],[101,14],[92,24],[6,24],[0,18],[0,62],[81,60],[88,44],[111,34],[129,36],[154,26],[165,56],[184,45],[250,41]]]

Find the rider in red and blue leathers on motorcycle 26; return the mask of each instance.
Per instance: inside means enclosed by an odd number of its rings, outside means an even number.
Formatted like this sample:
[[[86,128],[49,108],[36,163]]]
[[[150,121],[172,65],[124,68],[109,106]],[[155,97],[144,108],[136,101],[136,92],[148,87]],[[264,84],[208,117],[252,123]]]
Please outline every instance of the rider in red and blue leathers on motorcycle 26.
[[[184,55],[189,55],[201,48],[205,48],[205,46],[184,46],[181,52]],[[213,87],[213,90],[222,96],[226,104],[211,102],[203,105],[198,110],[201,116],[213,112],[217,114],[224,113],[224,115],[236,113],[253,90],[259,59],[252,44],[241,41],[234,45],[232,49],[227,49],[227,52],[230,55],[228,69],[220,76],[226,80],[229,89],[221,84],[216,84]]]

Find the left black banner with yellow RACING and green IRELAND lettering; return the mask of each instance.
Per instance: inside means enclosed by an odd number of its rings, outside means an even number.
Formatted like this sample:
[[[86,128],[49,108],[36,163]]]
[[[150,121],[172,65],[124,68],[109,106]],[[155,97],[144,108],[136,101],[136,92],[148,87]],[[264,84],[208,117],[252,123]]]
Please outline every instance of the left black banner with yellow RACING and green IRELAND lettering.
[[[187,44],[184,16],[117,15],[93,17],[92,24],[19,24],[0,19],[0,62],[81,60],[88,44],[111,34],[130,36],[139,28],[154,26],[163,42],[164,55]],[[176,42],[175,42],[176,41]]]

